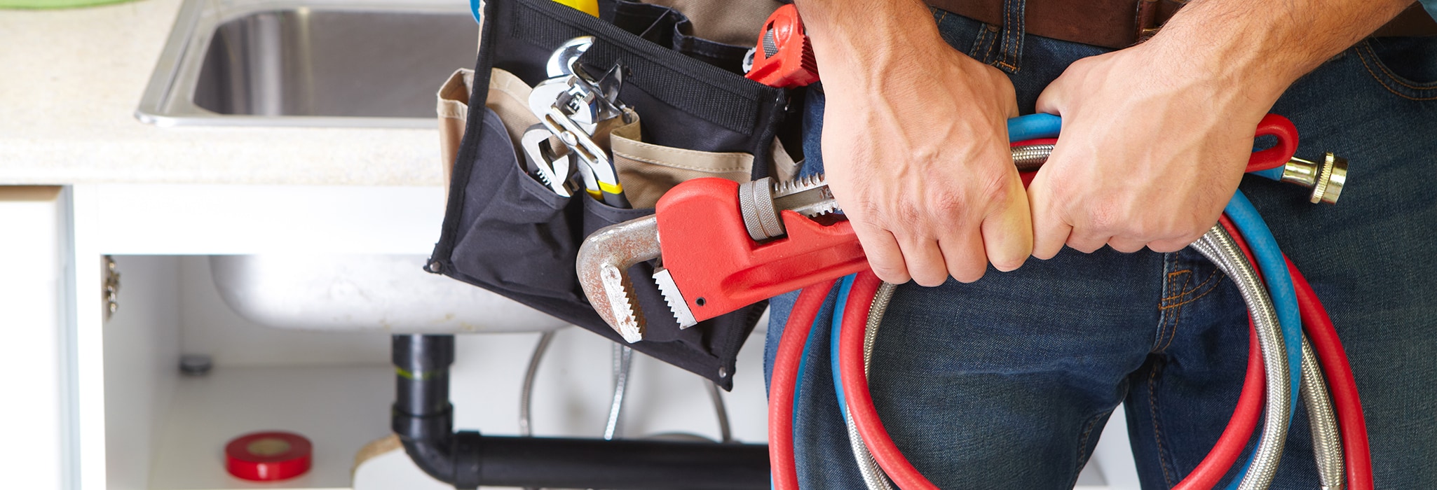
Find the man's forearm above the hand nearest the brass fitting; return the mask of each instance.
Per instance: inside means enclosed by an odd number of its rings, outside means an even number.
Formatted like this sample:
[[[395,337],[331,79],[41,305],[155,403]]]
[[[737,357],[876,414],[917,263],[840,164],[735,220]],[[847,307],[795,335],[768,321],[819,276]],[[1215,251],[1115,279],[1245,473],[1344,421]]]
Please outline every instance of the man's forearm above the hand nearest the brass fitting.
[[[1413,0],[1194,0],[1148,47],[1173,76],[1204,76],[1270,103],[1288,85],[1395,17]]]

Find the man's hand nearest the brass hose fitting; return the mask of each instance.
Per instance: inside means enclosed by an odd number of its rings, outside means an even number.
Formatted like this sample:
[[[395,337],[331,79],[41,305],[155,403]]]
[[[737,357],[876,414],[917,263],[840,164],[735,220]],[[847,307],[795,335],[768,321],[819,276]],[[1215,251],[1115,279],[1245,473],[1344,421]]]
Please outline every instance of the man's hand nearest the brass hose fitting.
[[[1078,60],[1039,96],[1038,111],[1062,116],[1063,129],[1027,188],[1035,257],[1063,244],[1174,251],[1233,197],[1280,91],[1246,91],[1246,75],[1191,66],[1200,60],[1158,37]]]

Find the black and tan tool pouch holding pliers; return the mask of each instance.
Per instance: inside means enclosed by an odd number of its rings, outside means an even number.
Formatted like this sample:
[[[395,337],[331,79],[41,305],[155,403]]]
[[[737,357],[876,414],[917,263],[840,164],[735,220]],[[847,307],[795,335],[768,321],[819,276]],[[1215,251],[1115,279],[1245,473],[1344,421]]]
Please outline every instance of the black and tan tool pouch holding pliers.
[[[569,39],[593,36],[593,46],[579,59],[585,69],[604,73],[615,63],[628,69],[619,99],[642,118],[642,128],[629,128],[628,139],[678,152],[752,155],[752,167],[741,177],[760,178],[792,172],[792,168],[779,172],[772,168],[775,135],[785,119],[787,96],[782,89],[717,66],[727,63],[726,56],[741,56],[741,52],[736,55],[731,49],[718,47],[724,46],[721,43],[683,42],[681,46],[703,56],[674,50],[678,45],[673,42],[673,34],[681,33],[675,24],[685,19],[667,7],[604,3],[608,20],[553,0],[487,0],[480,9],[480,50],[468,96],[470,116],[454,160],[444,227],[427,269],[624,342],[585,299],[575,273],[575,256],[589,233],[652,214],[654,208],[616,208],[582,190],[573,197],[563,197],[540,184],[525,171],[523,154],[516,151],[517,135],[512,131],[516,125],[523,131],[525,122],[510,121],[507,129],[504,124],[516,116],[504,108],[512,108],[514,102],[523,108],[523,101],[491,103],[504,101],[490,99],[513,99],[506,86],[537,85],[546,78],[545,63],[555,49]],[[642,20],[645,17],[634,11],[657,20]],[[754,34],[766,14],[757,16]],[[668,36],[655,36],[660,30],[668,32]],[[651,39],[667,40],[668,45]],[[632,132],[641,135],[632,138]],[[619,152],[618,147],[615,152]],[[624,178],[634,174],[632,165],[642,160],[615,158],[625,188],[638,187]],[[726,171],[731,174],[733,168]],[[694,177],[701,174],[693,172]],[[634,190],[627,194],[639,197],[661,191]],[[641,198],[634,204],[652,205],[655,198]],[[680,329],[650,279],[652,266],[641,263],[631,274],[638,306],[648,313],[645,339],[631,346],[713,379],[726,389],[731,388],[739,348],[766,305],[753,305]]]

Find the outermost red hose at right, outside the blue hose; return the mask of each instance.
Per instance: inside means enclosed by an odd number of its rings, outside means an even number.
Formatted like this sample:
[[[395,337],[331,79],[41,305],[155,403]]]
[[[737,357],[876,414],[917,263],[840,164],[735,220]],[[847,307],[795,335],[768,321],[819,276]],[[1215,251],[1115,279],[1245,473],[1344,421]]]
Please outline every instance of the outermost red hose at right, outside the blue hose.
[[[1252,262],[1252,250],[1237,227],[1223,216],[1219,223],[1233,236],[1233,240],[1247,260]],[[1302,272],[1288,262],[1288,274],[1292,276],[1292,286],[1298,296],[1298,310],[1302,316],[1302,328],[1308,333],[1308,341],[1322,365],[1323,378],[1328,381],[1328,391],[1332,395],[1332,405],[1338,415],[1338,430],[1342,433],[1342,454],[1348,474],[1348,490],[1372,490],[1372,453],[1367,440],[1367,418],[1362,415],[1362,399],[1357,391],[1357,379],[1352,378],[1352,365],[1348,362],[1342,341],[1338,339],[1332,318],[1322,306],[1312,285],[1302,276]],[[1256,263],[1256,262],[1253,262]]]

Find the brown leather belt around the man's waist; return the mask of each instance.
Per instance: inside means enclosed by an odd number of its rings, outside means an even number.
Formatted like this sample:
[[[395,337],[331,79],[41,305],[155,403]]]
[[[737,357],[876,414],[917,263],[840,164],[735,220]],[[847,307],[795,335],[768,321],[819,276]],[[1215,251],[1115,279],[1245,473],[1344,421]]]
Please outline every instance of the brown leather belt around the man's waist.
[[[987,24],[1003,26],[1003,0],[927,3]],[[1029,34],[1121,49],[1152,36],[1181,7],[1183,1],[1174,0],[1027,1],[1023,22]],[[1437,36],[1437,22],[1414,1],[1372,36]]]

